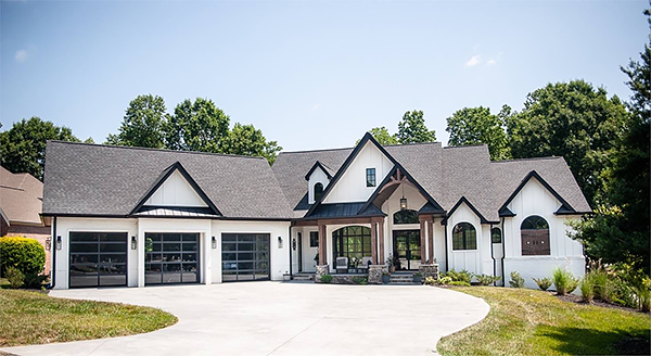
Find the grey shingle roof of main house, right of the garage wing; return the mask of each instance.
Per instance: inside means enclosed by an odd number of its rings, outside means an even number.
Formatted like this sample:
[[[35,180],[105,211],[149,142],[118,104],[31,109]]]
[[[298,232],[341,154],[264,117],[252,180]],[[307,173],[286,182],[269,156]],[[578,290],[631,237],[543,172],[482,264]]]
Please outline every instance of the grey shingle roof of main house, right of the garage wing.
[[[536,170],[574,209],[563,207],[559,212],[583,214],[591,211],[562,157],[492,162],[485,144],[443,148],[439,142],[433,142],[385,145],[384,149],[448,213],[460,203],[467,203],[484,223],[498,223],[500,207],[532,170]],[[294,207],[294,217],[305,216],[312,207],[307,204],[308,187],[303,173],[316,162],[326,162],[339,170],[353,152],[350,148],[279,154],[272,169],[289,204]],[[346,211],[352,212],[352,206],[347,207]],[[315,208],[312,213],[321,213],[320,209]],[[328,207],[326,215],[332,214],[333,209]],[[429,206],[424,211],[435,208]]]

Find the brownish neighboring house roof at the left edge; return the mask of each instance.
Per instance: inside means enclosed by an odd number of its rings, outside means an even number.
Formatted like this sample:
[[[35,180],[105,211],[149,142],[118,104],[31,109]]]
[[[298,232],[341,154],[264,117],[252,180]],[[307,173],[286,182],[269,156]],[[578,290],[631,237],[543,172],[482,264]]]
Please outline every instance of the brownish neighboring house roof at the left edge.
[[[9,224],[42,224],[43,183],[27,173],[13,174],[0,167],[0,211]]]

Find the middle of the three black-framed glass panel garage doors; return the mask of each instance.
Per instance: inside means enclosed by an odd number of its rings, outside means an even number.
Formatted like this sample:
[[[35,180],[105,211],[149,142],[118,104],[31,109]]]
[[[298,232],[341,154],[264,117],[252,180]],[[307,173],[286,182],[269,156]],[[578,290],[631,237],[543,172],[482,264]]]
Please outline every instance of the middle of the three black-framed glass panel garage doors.
[[[199,283],[199,233],[144,234],[144,284]]]

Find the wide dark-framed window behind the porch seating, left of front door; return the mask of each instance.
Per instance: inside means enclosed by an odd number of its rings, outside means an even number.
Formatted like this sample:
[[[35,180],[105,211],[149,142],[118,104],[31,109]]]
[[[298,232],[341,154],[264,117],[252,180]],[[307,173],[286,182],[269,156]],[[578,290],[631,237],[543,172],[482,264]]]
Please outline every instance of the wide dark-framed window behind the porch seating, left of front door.
[[[353,265],[353,257],[361,260],[361,257],[371,256],[371,229],[363,226],[347,226],[332,232],[334,244],[334,258],[348,257],[348,264]]]

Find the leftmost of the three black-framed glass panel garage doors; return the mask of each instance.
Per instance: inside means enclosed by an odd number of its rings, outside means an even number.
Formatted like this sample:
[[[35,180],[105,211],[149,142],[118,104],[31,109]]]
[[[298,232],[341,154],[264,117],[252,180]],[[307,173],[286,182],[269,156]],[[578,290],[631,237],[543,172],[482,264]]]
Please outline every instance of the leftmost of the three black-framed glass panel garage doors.
[[[71,232],[69,287],[127,285],[126,232]]]

